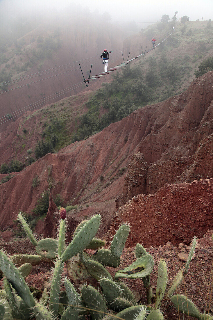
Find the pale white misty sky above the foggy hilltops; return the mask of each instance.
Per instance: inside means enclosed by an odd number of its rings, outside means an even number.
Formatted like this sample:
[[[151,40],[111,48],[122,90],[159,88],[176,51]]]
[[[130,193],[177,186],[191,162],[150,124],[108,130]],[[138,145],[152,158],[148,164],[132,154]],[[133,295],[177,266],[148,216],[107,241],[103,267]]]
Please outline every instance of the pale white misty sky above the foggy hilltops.
[[[64,10],[71,3],[81,4],[90,11],[99,13],[109,12],[113,21],[135,20],[141,26],[142,22],[154,23],[160,20],[163,14],[170,18],[178,11],[177,19],[187,15],[190,20],[203,17],[203,20],[213,20],[212,0],[0,0],[0,13],[18,15],[19,13],[46,12]]]

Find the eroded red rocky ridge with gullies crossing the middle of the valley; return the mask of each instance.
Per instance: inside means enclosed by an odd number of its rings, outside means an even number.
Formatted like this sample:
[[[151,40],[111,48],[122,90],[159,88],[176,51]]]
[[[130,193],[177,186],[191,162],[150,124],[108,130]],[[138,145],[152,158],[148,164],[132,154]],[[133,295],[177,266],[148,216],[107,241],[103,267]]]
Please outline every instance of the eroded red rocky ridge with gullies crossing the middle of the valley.
[[[119,205],[133,194],[154,193],[168,182],[211,176],[212,80],[213,72],[208,72],[181,95],[138,109],[87,140],[48,154],[16,173],[0,185],[1,228],[12,225],[18,210],[31,212],[47,188],[53,195],[60,193],[64,204],[82,205],[74,216],[101,212],[109,222],[116,198]],[[138,151],[142,160],[137,167],[137,159],[133,160]],[[33,188],[35,176],[40,184]],[[135,186],[136,191],[128,193]]]

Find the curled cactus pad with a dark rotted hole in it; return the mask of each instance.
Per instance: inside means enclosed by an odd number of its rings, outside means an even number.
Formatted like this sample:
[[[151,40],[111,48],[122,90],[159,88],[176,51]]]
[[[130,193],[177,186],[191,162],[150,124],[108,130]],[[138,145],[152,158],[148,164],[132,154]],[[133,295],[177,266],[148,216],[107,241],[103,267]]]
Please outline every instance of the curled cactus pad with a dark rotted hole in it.
[[[144,255],[134,261],[129,267],[116,272],[114,278],[143,278],[148,276],[154,268],[154,260],[150,254]],[[136,272],[137,271],[137,272]],[[134,273],[135,272],[135,273]]]

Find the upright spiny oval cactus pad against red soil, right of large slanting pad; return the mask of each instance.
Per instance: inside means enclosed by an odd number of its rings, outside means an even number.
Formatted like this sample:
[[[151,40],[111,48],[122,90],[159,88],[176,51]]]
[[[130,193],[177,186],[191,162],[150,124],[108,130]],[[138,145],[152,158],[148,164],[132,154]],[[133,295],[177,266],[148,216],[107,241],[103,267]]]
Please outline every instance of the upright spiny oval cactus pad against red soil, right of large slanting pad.
[[[124,245],[126,243],[126,239],[129,236],[130,233],[130,226],[128,224],[123,224],[120,226],[120,228],[117,230],[116,234],[114,235],[113,241],[111,242],[111,252],[112,254],[120,258],[122,255],[122,251],[124,248]]]

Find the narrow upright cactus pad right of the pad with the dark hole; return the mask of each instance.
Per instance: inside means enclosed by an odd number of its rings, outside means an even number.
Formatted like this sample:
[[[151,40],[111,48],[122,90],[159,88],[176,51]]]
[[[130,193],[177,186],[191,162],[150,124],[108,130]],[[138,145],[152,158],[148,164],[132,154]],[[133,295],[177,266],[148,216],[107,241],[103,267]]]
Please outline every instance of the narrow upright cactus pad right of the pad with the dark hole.
[[[166,282],[167,282],[167,268],[166,262],[161,260],[158,264],[158,279],[156,287],[156,300],[155,300],[155,309],[160,309],[161,302],[163,300],[165,291],[166,291]]]

